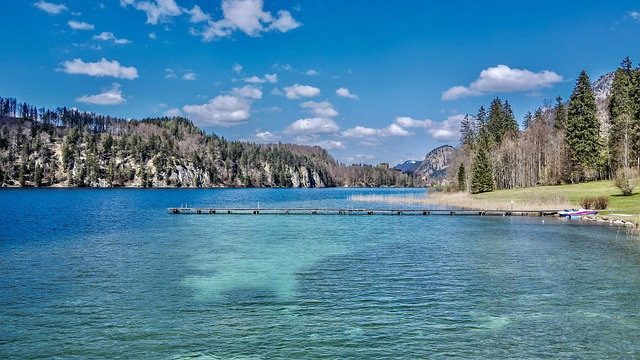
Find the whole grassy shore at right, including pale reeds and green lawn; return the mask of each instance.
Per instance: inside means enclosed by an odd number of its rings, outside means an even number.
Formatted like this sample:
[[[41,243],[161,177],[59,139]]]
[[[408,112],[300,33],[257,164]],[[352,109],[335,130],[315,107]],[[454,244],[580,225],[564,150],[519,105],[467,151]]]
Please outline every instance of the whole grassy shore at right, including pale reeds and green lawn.
[[[580,208],[583,198],[594,197],[609,199],[609,206],[601,210],[599,216],[640,224],[640,192],[636,191],[632,196],[622,196],[613,181],[498,190],[475,195],[428,192],[424,196],[360,196],[354,197],[353,200],[444,205],[481,210],[563,210]]]

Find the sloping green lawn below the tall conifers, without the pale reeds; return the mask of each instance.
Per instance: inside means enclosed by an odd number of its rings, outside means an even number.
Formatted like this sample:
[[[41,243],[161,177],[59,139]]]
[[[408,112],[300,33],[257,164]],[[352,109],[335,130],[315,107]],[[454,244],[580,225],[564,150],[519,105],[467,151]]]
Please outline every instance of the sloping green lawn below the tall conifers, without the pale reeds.
[[[532,198],[563,198],[574,207],[580,207],[580,200],[587,197],[605,196],[609,198],[609,206],[601,211],[601,215],[629,214],[640,216],[640,189],[636,189],[632,196],[622,196],[613,181],[593,181],[584,184],[539,186],[526,189],[498,190],[490,193],[476,194],[474,199],[497,201],[526,202]]]

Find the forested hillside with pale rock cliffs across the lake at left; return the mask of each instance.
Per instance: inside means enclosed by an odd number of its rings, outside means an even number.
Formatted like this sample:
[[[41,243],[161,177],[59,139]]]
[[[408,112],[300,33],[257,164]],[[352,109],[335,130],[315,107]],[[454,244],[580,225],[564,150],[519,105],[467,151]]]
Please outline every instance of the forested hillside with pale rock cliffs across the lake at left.
[[[0,185],[73,187],[413,186],[326,150],[205,134],[185,118],[115,119],[0,98]]]

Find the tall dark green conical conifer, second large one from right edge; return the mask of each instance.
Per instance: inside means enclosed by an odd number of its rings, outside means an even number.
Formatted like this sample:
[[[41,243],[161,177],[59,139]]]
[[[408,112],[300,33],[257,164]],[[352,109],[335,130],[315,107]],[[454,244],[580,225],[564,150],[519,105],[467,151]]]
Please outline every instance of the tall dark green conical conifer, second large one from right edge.
[[[573,169],[572,181],[580,181],[589,170],[600,165],[600,124],[596,117],[596,98],[589,76],[583,70],[569,98],[566,142],[569,162]]]

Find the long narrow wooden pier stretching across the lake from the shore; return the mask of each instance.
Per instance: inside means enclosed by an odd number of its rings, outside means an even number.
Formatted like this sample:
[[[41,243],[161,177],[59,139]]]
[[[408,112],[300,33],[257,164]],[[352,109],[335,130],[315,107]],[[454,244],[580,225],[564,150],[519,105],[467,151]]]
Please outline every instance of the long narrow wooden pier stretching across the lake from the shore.
[[[207,215],[449,215],[449,216],[555,216],[558,210],[462,209],[301,209],[301,208],[168,208],[171,214]]]

